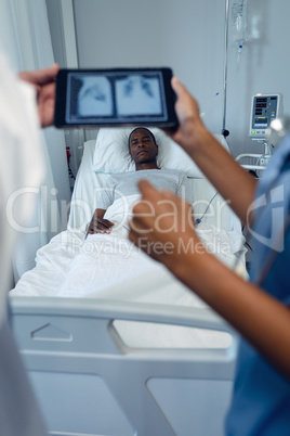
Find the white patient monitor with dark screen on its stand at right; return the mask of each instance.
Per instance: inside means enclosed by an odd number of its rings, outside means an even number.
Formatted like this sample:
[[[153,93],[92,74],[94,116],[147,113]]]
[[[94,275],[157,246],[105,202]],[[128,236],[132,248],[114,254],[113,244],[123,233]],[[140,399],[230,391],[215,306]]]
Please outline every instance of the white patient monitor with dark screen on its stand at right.
[[[272,157],[274,141],[269,137],[273,123],[278,123],[282,115],[281,93],[258,93],[252,97],[249,137],[256,143],[264,144],[264,153],[242,153],[236,157],[240,162],[245,158],[253,159],[253,164],[241,164],[246,169],[264,170]],[[273,138],[273,137],[272,137]]]

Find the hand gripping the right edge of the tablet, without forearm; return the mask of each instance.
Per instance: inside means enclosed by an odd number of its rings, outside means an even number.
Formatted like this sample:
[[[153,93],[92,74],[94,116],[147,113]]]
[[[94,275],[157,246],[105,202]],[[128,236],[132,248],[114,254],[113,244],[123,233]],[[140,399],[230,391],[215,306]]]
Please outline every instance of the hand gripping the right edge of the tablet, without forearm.
[[[198,103],[193,95],[176,77],[172,78],[171,86],[176,94],[175,112],[180,126],[175,132],[166,132],[190,154],[210,133],[200,118]]]

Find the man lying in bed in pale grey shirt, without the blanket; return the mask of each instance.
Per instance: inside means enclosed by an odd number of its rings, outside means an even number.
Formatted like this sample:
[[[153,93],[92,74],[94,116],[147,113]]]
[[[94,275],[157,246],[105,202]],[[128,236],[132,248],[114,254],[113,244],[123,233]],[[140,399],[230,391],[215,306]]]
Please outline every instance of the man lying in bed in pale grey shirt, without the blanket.
[[[135,172],[130,171],[110,177],[106,189],[102,190],[98,197],[98,208],[95,210],[88,229],[90,234],[110,233],[116,223],[119,227],[127,227],[131,206],[136,201],[136,196],[140,197],[137,182],[141,179],[150,180],[159,190],[168,189],[188,200],[186,175],[158,168],[158,145],[150,130],[134,129],[128,142],[129,153],[135,164]]]

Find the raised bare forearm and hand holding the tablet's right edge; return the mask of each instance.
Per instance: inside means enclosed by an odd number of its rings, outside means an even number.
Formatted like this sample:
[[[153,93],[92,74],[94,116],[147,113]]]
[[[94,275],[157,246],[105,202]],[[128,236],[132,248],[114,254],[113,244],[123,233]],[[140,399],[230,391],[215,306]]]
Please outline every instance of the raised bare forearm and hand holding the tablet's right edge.
[[[171,134],[193,158],[242,222],[254,198],[255,179],[250,176],[206,129],[196,100],[174,77],[172,88],[177,97],[175,111],[179,129]]]

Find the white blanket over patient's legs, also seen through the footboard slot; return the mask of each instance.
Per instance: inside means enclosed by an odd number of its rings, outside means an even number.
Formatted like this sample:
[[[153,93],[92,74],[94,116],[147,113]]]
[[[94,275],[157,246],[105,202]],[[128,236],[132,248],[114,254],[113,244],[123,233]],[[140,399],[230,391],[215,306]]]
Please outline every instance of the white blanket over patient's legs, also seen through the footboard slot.
[[[128,240],[127,221],[136,198],[131,200],[124,207],[127,219],[122,219],[120,204],[107,210],[106,217],[116,222],[110,234],[84,239],[83,232],[67,230],[52,239],[38,251],[36,268],[22,277],[11,295],[113,298],[207,308],[163,265]],[[236,234],[210,225],[199,225],[197,232],[221,261],[228,267],[237,264]],[[241,264],[240,269],[245,271]],[[232,343],[229,334],[205,329],[129,321],[116,321],[115,328],[132,347],[227,348]]]

